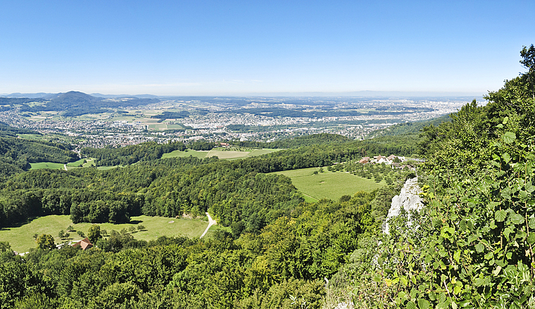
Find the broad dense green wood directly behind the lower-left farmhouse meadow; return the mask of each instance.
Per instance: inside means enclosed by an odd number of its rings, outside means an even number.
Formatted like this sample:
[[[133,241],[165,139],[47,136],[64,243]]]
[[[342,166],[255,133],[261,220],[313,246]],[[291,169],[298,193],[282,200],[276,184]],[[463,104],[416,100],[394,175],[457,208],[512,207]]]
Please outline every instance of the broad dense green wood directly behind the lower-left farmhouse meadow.
[[[241,230],[258,232],[302,201],[282,175],[259,174],[250,166],[215,158],[174,158],[103,172],[31,170],[17,175],[3,184],[0,224],[50,214],[70,214],[73,222],[128,222],[132,215],[174,217],[203,214],[212,207],[223,225],[237,223]]]

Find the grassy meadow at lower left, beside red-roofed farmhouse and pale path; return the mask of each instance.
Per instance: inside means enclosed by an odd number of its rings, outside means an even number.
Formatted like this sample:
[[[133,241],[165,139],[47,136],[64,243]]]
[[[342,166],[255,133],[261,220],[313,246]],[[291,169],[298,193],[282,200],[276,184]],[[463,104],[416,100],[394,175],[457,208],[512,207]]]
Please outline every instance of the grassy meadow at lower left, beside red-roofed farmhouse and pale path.
[[[87,235],[91,223],[78,223],[73,225],[68,215],[48,215],[46,217],[37,217],[20,227],[5,227],[0,229],[0,241],[8,241],[11,248],[18,252],[27,252],[30,248],[35,248],[34,234],[51,234],[56,240],[56,244],[62,242],[58,237],[59,231],[66,229],[72,225],[76,231],[82,231]],[[132,217],[131,224],[113,225],[111,223],[99,224],[101,229],[106,229],[109,233],[112,229],[120,231],[121,229],[129,229],[129,227],[143,225],[146,230],[141,232],[134,232],[132,236],[134,239],[153,240],[160,236],[174,237],[179,235],[186,235],[188,237],[200,237],[208,226],[208,222],[202,220],[188,220],[175,219],[169,217],[149,217],[141,215],[139,217]],[[210,227],[205,237],[212,237],[215,230],[227,229],[219,225]],[[79,240],[77,232],[70,232],[68,240]]]

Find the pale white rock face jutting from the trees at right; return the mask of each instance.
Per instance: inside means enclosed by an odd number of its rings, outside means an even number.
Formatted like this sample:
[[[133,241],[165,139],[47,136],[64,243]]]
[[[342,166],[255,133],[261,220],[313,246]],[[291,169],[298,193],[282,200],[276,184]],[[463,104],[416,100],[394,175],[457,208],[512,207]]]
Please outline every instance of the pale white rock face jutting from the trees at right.
[[[405,209],[406,212],[410,212],[410,210],[420,211],[422,209],[423,204],[419,195],[421,192],[422,189],[418,187],[418,177],[405,181],[399,195],[392,198],[392,204],[389,214],[386,216],[386,224],[383,229],[384,233],[389,234],[389,219],[398,216],[401,213],[401,208]],[[408,224],[410,224],[410,217]]]

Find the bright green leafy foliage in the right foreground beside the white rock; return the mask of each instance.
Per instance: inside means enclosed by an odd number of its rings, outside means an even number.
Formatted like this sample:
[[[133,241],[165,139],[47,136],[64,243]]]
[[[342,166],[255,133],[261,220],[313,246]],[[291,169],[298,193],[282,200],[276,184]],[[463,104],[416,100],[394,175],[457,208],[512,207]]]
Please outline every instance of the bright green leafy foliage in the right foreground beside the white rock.
[[[353,284],[332,294],[359,308],[535,308],[533,74],[424,130],[426,208],[355,251],[335,276]]]

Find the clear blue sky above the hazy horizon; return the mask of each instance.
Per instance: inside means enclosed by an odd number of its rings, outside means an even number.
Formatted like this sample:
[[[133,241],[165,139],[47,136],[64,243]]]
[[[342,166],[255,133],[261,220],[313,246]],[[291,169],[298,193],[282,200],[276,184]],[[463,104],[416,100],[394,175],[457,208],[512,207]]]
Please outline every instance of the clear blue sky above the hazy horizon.
[[[535,1],[5,1],[0,93],[486,94]]]

